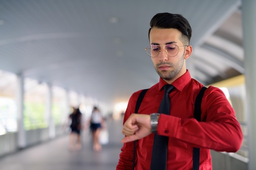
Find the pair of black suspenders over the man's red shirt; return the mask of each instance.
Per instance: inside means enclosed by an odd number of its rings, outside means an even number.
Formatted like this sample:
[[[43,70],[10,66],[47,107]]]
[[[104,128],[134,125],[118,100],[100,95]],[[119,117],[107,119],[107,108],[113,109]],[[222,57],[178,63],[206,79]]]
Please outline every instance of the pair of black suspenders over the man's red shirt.
[[[201,101],[204,96],[204,92],[207,89],[207,87],[202,87],[200,90],[198,96],[195,98],[195,111],[194,111],[194,118],[200,122],[201,121]],[[139,106],[146,94],[148,89],[144,89],[139,94],[139,97],[137,99],[136,107],[135,107],[135,113],[138,113]],[[132,170],[134,170],[135,166],[135,145],[136,141],[134,141],[133,144],[133,158],[132,158]],[[199,170],[199,163],[200,163],[200,148],[193,148],[193,170]]]

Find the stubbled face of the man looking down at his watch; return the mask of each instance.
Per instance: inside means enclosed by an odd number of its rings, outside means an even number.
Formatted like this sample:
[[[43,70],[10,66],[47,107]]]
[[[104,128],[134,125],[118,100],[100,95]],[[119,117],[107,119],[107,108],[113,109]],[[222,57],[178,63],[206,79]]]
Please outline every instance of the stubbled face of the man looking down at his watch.
[[[177,29],[161,29],[152,28],[150,31],[150,44],[155,44],[160,47],[160,53],[157,57],[152,57],[152,61],[157,74],[166,82],[172,83],[186,72],[186,65],[184,62],[184,52],[186,47],[180,48],[175,57],[169,57],[165,52],[164,45],[175,44],[178,47],[183,47],[187,44],[182,44],[180,41],[182,33]]]

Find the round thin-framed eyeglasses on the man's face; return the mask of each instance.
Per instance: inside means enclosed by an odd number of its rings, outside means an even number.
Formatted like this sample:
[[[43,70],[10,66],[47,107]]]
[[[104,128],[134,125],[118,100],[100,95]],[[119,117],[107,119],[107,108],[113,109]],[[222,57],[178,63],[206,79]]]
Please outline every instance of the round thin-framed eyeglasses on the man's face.
[[[175,44],[166,44],[163,46],[159,46],[159,45],[151,44],[147,46],[145,50],[149,57],[157,57],[157,55],[161,52],[162,47],[165,47],[164,51],[169,57],[175,57],[178,54],[180,48],[184,48],[187,46],[178,47]]]

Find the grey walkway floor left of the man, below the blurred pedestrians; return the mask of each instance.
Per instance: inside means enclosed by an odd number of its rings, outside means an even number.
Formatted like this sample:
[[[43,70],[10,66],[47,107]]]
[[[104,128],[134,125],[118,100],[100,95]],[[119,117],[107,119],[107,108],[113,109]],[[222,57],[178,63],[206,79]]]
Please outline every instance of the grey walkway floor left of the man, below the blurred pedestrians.
[[[0,159],[0,170],[115,170],[120,149],[121,120],[108,120],[110,141],[100,152],[92,149],[91,135],[82,134],[83,146],[79,151],[68,150],[68,136],[58,137],[7,155]]]

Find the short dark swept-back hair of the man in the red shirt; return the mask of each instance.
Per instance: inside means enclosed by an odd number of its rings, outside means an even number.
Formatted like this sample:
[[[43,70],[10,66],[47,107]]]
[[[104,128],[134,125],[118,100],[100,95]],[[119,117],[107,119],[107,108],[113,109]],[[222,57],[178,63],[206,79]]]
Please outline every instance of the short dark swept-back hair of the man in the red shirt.
[[[150,27],[153,28],[175,28],[182,33],[182,43],[183,45],[189,45],[192,35],[191,26],[181,14],[172,13],[157,13],[150,21]],[[151,28],[148,30],[148,39]]]

